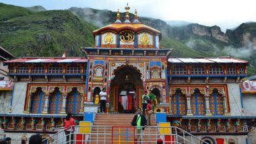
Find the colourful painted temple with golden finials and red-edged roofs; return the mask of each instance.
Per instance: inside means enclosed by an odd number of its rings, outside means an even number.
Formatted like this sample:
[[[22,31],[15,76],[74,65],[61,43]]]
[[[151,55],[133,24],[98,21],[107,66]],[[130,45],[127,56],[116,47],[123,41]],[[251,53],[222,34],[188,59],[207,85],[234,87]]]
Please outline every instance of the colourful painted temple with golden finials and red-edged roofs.
[[[171,125],[209,143],[248,142],[256,117],[244,112],[240,88],[248,61],[171,57],[172,48],[160,48],[161,32],[141,24],[137,11],[130,20],[129,9],[123,22],[118,10],[113,24],[94,30],[94,47],[82,48],[84,57],[4,61],[15,85],[8,110],[0,114],[3,131],[20,139],[26,137],[23,131],[49,137],[67,112],[79,121],[85,110],[98,107],[95,96],[106,87],[106,113],[133,114],[143,92],[152,90],[155,110],[165,112]],[[123,96],[127,105],[121,111]]]

